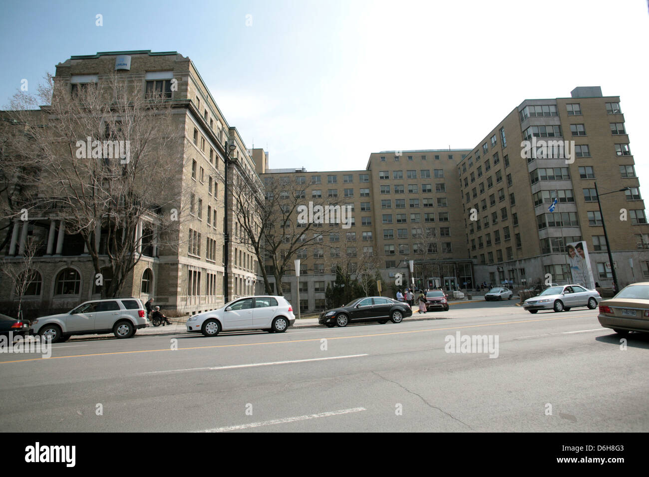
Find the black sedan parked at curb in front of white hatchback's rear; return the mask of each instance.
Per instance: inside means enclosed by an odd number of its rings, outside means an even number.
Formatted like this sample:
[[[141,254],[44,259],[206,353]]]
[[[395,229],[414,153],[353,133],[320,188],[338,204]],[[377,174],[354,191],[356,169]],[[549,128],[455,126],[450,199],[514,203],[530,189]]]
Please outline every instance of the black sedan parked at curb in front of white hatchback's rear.
[[[378,321],[384,324],[391,320],[392,323],[401,323],[409,316],[412,316],[412,310],[408,303],[386,297],[365,297],[320,313],[318,323],[329,328],[347,326],[350,321]]]

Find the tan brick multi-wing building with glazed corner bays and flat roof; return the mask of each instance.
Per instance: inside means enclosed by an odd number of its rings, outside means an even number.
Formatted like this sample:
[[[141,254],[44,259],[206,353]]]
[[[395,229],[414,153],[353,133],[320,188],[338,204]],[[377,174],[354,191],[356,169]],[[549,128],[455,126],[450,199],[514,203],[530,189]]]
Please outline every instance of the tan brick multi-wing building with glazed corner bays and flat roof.
[[[270,169],[267,159],[257,163],[263,180],[298,181],[306,201],[327,197],[354,211],[349,230],[300,254],[302,310],[323,309],[335,265],[367,254],[387,287],[397,273],[408,277],[403,286],[528,286],[572,282],[567,244],[582,242],[594,282],[611,287],[596,181],[600,196],[630,188],[602,199],[620,286],[649,278],[649,225],[620,98],[599,87],[527,99],[473,149],[383,151],[352,171]],[[296,287],[294,276],[282,278],[289,297]]]

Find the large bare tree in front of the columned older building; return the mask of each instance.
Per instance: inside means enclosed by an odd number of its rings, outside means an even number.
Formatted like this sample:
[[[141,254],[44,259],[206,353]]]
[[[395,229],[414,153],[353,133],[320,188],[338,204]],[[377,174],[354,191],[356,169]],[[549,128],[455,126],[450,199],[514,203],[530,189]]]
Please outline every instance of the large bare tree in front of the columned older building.
[[[3,128],[12,155],[6,177],[27,171],[31,179],[29,197],[10,193],[4,216],[23,208],[64,215],[66,233],[79,234],[95,273],[110,280],[102,295],[117,296],[145,240],[177,247],[188,208],[184,128],[175,120],[182,116],[164,93],[145,96],[140,80],[115,73],[73,85],[49,77],[38,97],[51,97],[51,105],[34,112],[37,98],[16,95]]]

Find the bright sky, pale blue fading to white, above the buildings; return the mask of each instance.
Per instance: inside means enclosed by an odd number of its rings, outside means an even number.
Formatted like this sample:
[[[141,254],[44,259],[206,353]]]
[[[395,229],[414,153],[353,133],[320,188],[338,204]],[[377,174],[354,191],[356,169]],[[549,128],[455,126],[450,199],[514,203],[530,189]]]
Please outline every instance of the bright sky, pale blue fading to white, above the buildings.
[[[0,5],[2,108],[72,55],[178,51],[270,167],[349,170],[378,151],[471,149],[524,99],[601,86],[649,198],[647,0]]]

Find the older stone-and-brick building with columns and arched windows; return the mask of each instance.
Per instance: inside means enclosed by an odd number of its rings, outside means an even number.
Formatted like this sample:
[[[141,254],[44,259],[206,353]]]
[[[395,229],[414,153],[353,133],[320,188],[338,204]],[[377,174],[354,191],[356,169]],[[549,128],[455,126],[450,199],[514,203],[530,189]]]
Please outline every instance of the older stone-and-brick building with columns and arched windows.
[[[228,124],[219,106],[190,58],[177,52],[112,51],[96,55],[71,56],[56,66],[55,85],[73,95],[89,85],[99,84],[112,75],[128,79],[141,89],[141,95],[163,95],[173,104],[173,121],[178,132],[180,157],[173,177],[161,188],[180,184],[178,195],[190,203],[189,220],[180,225],[174,239],[176,247],[158,247],[160,230],[157,214],[138,226],[136,241],[140,261],[123,288],[124,296],[147,300],[153,297],[165,310],[197,313],[217,308],[227,294],[230,299],[255,293],[259,282],[256,257],[249,247],[230,241],[225,250],[224,232],[236,234],[232,212],[224,227],[225,167],[228,173],[248,177],[260,184],[251,154],[238,130]],[[47,114],[43,108],[42,114]],[[228,201],[232,211],[232,200]],[[24,298],[27,308],[39,313],[69,310],[84,300],[101,297],[95,286],[95,271],[88,249],[79,234],[66,232],[65,211],[31,214],[29,220],[16,217],[6,246],[0,251],[7,262],[21,262],[25,243],[37,236],[47,244],[34,257],[36,275]],[[106,252],[103,230],[96,239]],[[105,236],[105,233],[104,233]],[[224,284],[225,254],[228,255],[228,280]],[[6,276],[0,278],[3,282]],[[110,279],[110,276],[106,276]],[[12,300],[14,287],[0,291],[2,300]]]

